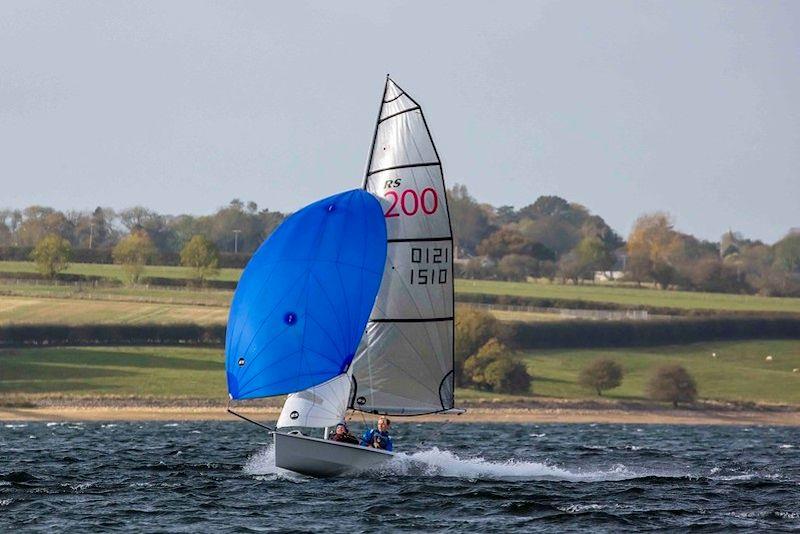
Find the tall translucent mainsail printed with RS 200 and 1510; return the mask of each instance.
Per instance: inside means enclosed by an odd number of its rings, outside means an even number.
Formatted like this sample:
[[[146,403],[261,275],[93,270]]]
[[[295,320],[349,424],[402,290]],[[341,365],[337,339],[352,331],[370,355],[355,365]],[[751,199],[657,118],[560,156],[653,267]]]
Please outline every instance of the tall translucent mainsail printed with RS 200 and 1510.
[[[354,364],[358,410],[453,407],[453,240],[442,166],[419,104],[387,77],[364,188],[381,197],[383,281]]]

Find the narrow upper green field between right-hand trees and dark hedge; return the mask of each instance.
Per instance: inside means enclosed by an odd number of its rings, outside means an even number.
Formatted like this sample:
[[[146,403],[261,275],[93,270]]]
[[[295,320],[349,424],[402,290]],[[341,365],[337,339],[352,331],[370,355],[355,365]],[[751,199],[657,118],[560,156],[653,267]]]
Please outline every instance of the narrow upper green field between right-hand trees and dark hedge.
[[[592,284],[576,286],[546,282],[456,280],[456,293],[486,293],[491,295],[610,302],[631,307],[653,306],[686,310],[800,313],[800,298],[662,291],[658,289]]]

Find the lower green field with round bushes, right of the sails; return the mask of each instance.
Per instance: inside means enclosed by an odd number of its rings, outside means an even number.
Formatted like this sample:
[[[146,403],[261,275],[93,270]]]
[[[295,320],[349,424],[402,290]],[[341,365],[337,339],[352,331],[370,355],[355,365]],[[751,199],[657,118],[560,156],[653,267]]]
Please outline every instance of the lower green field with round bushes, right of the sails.
[[[717,354],[717,358],[711,356]],[[766,362],[767,355],[773,356]],[[578,385],[580,370],[592,359],[609,357],[622,364],[625,378],[604,396],[641,399],[655,368],[678,363],[695,377],[700,397],[723,401],[800,404],[800,341],[760,340],[696,343],[608,350],[547,350],[522,355],[533,375],[533,391],[560,398],[596,398]]]

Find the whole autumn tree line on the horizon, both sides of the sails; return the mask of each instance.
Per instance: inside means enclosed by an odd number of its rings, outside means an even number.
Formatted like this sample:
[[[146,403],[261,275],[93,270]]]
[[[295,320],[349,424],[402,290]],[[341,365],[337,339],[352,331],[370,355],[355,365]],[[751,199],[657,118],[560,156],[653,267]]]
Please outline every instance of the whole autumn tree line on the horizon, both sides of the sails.
[[[626,240],[599,215],[557,196],[540,196],[519,209],[495,207],[455,185],[448,190],[448,201],[457,276],[580,284],[621,275],[661,288],[800,295],[797,230],[772,245],[733,231],[717,242],[706,241],[680,232],[669,214],[657,212],[639,217]],[[119,212],[30,206],[0,210],[0,247],[33,247],[58,236],[73,250],[111,251],[139,236],[145,263],[164,261],[169,254],[177,263],[177,254],[195,236],[203,236],[218,253],[252,254],[285,217],[238,199],[203,216],[163,215],[141,206]],[[92,255],[81,257],[94,261]]]

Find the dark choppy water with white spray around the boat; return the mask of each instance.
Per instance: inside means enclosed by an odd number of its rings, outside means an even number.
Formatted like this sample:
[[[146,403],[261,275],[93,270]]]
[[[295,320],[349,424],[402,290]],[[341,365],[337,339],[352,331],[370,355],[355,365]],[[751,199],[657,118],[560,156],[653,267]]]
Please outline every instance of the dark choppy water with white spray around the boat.
[[[0,531],[800,529],[800,428],[394,426],[315,480],[235,421],[0,423]]]

